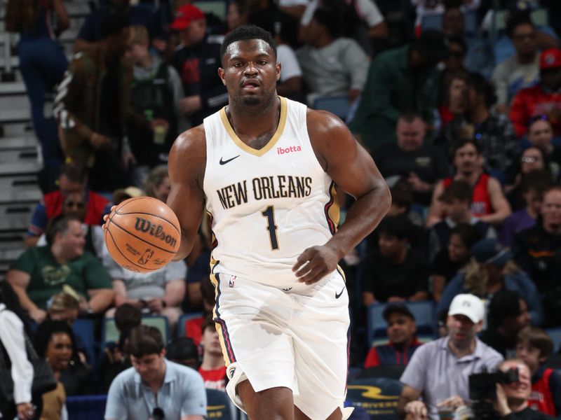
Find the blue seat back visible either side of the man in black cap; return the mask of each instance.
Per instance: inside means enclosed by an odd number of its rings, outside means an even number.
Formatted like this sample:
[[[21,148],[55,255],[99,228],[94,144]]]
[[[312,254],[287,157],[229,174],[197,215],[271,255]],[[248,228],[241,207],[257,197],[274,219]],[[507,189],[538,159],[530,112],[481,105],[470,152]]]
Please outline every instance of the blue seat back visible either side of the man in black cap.
[[[436,337],[435,303],[432,300],[422,300],[419,302],[406,302],[405,304],[415,317],[417,335]],[[382,316],[386,306],[388,306],[387,303],[376,303],[367,308],[367,338],[369,346],[379,339],[387,337],[386,320]]]

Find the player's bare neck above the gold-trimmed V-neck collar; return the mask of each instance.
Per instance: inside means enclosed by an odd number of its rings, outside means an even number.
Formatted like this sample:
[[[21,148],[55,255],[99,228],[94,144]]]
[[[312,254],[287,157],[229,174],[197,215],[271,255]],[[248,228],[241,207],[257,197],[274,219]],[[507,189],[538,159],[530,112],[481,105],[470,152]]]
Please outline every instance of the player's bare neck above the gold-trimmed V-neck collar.
[[[264,133],[270,133],[272,137],[276,132],[280,119],[280,99],[275,94],[269,104],[259,107],[230,102],[226,115],[239,139],[248,146],[255,147],[250,144],[252,141]]]

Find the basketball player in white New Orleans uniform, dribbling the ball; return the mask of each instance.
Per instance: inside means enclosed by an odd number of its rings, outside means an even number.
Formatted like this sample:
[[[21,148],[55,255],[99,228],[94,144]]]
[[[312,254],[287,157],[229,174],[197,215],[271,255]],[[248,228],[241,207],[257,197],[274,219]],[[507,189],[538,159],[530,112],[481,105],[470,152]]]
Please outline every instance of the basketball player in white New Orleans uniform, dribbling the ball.
[[[176,259],[208,211],[227,391],[251,420],[345,419],[349,299],[337,262],[386,214],[388,188],[341,120],[278,97],[268,32],[234,29],[221,56],[229,105],[170,153]],[[335,184],[356,197],[338,231]]]

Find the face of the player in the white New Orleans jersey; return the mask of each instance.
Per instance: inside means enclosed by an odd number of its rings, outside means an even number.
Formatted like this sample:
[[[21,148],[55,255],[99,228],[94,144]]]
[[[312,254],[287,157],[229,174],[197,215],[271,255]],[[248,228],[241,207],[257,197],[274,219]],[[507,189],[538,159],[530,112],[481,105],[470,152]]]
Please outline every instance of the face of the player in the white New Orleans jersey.
[[[266,106],[271,103],[280,78],[280,64],[271,46],[261,39],[228,45],[218,74],[233,104]]]

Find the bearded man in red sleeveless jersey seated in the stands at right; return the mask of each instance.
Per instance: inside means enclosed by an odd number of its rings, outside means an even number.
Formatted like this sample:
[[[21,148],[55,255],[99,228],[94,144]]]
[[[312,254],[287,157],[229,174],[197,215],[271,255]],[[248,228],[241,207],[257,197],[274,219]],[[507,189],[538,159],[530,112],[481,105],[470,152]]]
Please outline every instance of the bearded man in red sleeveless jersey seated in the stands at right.
[[[438,197],[452,181],[466,181],[473,188],[471,214],[489,225],[499,225],[511,214],[511,206],[499,181],[483,172],[480,146],[473,140],[461,140],[452,150],[456,174],[438,183],[433,192],[431,209],[428,211],[428,228],[444,220],[445,209]]]

